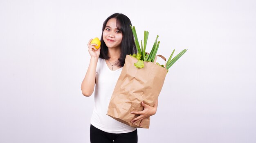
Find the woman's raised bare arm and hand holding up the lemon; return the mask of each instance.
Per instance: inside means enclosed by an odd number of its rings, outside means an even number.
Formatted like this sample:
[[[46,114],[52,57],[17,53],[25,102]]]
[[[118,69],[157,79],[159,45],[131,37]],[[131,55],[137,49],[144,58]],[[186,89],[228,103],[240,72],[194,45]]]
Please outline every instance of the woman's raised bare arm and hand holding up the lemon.
[[[97,44],[90,44],[91,41],[92,39],[90,39],[90,41],[87,44],[89,48],[88,51],[91,55],[90,64],[81,85],[82,94],[87,97],[92,95],[94,91],[94,85],[96,81],[96,67],[97,67],[99,54],[101,50],[101,48],[96,49],[94,47],[94,45],[97,45]]]

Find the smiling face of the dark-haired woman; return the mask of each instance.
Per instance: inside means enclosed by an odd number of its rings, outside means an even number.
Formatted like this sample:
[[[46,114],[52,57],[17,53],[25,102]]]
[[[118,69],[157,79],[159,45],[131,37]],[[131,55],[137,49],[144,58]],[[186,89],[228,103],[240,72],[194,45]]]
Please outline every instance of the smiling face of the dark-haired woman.
[[[117,29],[116,19],[111,18],[103,31],[103,41],[108,48],[121,48],[122,38],[123,34]]]

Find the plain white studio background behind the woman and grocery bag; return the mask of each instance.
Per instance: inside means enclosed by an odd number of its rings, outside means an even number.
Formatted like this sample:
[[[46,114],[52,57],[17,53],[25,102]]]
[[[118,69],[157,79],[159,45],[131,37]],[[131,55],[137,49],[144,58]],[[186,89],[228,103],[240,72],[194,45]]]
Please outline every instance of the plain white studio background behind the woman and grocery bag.
[[[169,70],[139,143],[256,142],[254,0],[0,0],[0,142],[89,143],[94,105],[81,93],[103,21],[124,13]],[[161,62],[161,61],[159,61]]]

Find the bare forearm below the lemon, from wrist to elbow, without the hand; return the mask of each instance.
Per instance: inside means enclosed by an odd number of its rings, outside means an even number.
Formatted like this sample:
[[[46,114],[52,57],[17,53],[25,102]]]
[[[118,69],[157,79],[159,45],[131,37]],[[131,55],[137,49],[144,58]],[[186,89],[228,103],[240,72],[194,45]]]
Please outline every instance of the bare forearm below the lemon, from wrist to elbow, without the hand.
[[[81,90],[84,96],[90,96],[94,91],[94,85],[95,85],[95,79],[96,79],[96,67],[97,67],[98,59],[99,58],[90,59],[88,70],[81,84]]]

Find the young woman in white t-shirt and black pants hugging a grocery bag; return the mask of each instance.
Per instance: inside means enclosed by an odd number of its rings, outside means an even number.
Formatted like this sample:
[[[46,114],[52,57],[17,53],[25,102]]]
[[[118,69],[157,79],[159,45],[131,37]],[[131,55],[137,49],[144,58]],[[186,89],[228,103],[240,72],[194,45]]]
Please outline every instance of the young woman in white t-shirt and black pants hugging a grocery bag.
[[[91,118],[91,143],[137,143],[137,128],[123,124],[108,115],[108,104],[114,91],[117,80],[124,66],[127,54],[137,53],[135,42],[130,28],[130,19],[121,13],[115,13],[103,23],[101,47],[94,48],[96,44],[88,42],[90,64],[83,79],[81,90],[84,96],[94,92],[94,110]],[[157,111],[156,101],[154,107],[141,103],[144,110],[132,112],[139,117],[132,119],[132,123],[152,116]]]

